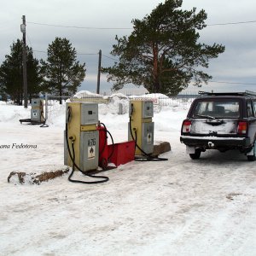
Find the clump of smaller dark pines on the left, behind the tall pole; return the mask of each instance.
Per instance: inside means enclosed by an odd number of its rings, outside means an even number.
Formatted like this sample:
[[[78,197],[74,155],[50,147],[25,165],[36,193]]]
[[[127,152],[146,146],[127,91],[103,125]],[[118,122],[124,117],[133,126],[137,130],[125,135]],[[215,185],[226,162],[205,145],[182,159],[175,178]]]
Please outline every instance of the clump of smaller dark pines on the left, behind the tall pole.
[[[10,47],[10,54],[0,67],[0,93],[21,105],[23,99],[22,42],[18,39]],[[49,93],[55,96],[74,94],[85,77],[85,63],[76,60],[76,49],[67,38],[55,38],[47,49],[47,60],[33,57],[26,46],[26,73],[28,98]]]

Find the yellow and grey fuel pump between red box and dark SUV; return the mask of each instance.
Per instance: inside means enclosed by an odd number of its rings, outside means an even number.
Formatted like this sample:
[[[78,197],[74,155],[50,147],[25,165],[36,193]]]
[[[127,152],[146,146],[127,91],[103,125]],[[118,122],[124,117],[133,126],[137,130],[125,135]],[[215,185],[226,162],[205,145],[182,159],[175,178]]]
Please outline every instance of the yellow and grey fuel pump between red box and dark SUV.
[[[152,154],[154,151],[154,115],[153,102],[130,102],[130,122],[128,127],[129,140],[136,141],[136,155]]]

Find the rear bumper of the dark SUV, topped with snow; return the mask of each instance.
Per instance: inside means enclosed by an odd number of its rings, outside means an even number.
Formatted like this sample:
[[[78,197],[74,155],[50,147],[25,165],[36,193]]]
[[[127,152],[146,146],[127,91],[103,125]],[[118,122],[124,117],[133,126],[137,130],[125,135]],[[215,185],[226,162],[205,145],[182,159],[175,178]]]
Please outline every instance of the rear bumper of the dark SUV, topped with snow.
[[[201,148],[248,148],[251,146],[248,137],[181,136],[180,141],[187,146]],[[211,143],[212,146],[209,146]]]

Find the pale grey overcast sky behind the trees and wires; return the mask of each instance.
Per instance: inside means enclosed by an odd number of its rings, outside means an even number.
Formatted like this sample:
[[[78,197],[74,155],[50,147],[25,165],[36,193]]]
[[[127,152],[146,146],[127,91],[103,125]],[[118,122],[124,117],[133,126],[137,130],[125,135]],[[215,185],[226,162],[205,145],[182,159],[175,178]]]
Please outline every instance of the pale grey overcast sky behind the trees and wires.
[[[115,35],[130,35],[132,19],[143,19],[160,0],[2,0],[0,10],[0,64],[10,53],[10,45],[22,38],[20,24],[26,15],[26,43],[38,59],[46,59],[45,52],[55,37],[67,38],[77,49],[78,60],[86,63],[86,78],[79,90],[96,91],[96,73],[99,49],[102,49],[102,67],[113,65],[109,57]],[[183,9],[205,9],[207,24],[256,20],[254,0],[183,0]],[[45,26],[49,24],[56,26]],[[60,26],[58,26],[60,25]],[[207,73],[212,81],[201,89],[189,91],[244,91],[256,90],[256,22],[234,25],[207,26],[201,31],[201,42],[224,44],[224,54],[210,61]],[[101,90],[110,90],[112,84],[101,77]],[[222,83],[227,82],[227,83]],[[241,84],[238,84],[241,83]]]

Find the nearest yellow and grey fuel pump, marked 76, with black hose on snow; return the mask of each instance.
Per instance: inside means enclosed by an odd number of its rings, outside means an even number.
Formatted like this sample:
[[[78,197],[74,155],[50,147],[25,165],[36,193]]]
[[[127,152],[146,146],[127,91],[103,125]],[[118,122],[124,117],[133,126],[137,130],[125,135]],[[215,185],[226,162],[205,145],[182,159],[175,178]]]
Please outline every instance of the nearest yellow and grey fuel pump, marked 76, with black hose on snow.
[[[96,103],[68,102],[66,107],[66,130],[64,143],[64,164],[72,166],[89,177],[99,177],[102,180],[84,182],[68,179],[77,183],[103,183],[108,177],[90,175],[96,171],[99,159],[98,105]]]

